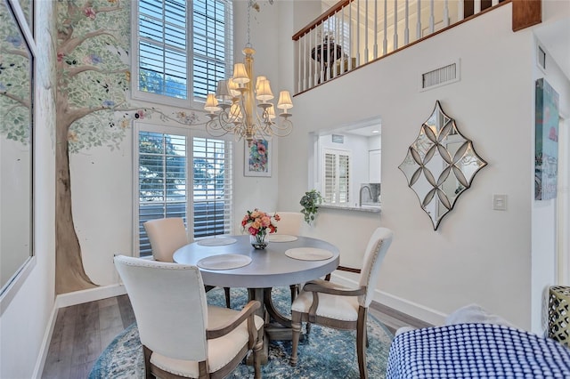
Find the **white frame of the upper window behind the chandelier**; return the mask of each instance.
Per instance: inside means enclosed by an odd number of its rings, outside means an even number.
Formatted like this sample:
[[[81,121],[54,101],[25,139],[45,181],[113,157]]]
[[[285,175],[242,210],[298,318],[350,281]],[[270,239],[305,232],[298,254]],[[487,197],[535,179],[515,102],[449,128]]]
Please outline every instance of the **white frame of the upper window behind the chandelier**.
[[[215,0],[216,2],[225,3],[224,14],[224,36],[226,36],[224,44],[225,56],[225,77],[229,77],[233,68],[233,1],[232,0]],[[139,1],[131,3],[131,90],[130,97],[135,101],[147,101],[162,105],[174,106],[179,108],[190,108],[201,110],[204,107],[206,98],[194,95],[193,80],[193,60],[194,60],[194,41],[192,30],[194,28],[193,20],[193,2],[186,2],[186,99],[178,99],[175,97],[149,93],[139,90]],[[200,55],[201,57],[201,55]]]

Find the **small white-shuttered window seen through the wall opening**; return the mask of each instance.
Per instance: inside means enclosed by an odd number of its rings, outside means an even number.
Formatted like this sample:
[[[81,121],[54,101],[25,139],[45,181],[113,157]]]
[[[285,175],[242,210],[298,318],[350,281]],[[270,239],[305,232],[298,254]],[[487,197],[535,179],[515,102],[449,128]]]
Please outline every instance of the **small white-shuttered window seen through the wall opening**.
[[[346,204],[350,188],[350,152],[323,149],[323,198],[327,204]]]

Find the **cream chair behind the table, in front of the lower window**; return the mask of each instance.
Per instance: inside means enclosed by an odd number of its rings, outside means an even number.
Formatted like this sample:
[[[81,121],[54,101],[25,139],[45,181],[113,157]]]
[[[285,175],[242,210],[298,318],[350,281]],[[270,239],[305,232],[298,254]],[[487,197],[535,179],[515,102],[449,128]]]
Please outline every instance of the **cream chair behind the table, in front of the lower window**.
[[[173,255],[180,247],[188,244],[188,235],[182,217],[166,217],[149,220],[142,224],[149,242],[151,242],[152,257],[159,262],[174,262]],[[206,286],[208,292],[214,286]],[[230,288],[224,287],[225,305],[231,308]]]

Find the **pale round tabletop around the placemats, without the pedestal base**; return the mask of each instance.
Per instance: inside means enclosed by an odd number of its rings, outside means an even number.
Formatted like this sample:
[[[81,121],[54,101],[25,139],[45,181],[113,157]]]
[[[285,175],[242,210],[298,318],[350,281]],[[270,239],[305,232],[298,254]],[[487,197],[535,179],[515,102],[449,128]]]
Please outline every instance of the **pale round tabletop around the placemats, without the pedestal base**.
[[[291,286],[321,278],[337,269],[339,253],[336,246],[321,239],[295,237],[296,240],[289,242],[269,242],[268,246],[261,250],[251,246],[248,235],[220,237],[235,239],[234,243],[228,245],[210,246],[196,241],[176,250],[173,258],[177,263],[198,266],[207,286],[247,288]],[[310,261],[291,258],[286,254],[288,250],[297,248],[327,251],[331,257]],[[224,254],[246,255],[251,262],[229,270],[208,270],[200,267],[201,260]]]

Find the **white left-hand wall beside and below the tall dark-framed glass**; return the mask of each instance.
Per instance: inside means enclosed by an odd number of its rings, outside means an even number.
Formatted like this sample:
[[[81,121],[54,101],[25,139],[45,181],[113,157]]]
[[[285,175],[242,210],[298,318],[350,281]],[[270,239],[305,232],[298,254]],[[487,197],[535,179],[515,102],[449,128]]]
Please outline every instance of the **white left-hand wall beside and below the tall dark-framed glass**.
[[[28,277],[0,317],[0,377],[30,378],[41,370],[54,304],[54,96],[50,15],[53,2],[36,2],[35,258]],[[4,308],[4,304],[3,304]],[[49,343],[49,341],[48,341]],[[41,372],[40,372],[41,374]]]

